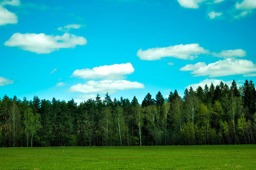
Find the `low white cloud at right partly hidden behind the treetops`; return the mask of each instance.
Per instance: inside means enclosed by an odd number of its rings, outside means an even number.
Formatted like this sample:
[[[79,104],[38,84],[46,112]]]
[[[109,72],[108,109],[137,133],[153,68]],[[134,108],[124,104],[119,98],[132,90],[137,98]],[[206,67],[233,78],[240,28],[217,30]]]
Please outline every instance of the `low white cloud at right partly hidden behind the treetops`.
[[[207,84],[207,86],[210,88],[211,86],[211,83],[214,85],[214,86],[217,86],[220,84],[222,80],[218,80],[218,79],[205,79],[204,81],[200,81],[199,83],[197,84],[191,84],[189,86],[187,86],[186,88],[190,88],[192,87],[193,89],[197,89],[198,86],[201,86],[202,88],[204,88],[205,84]],[[232,81],[222,81],[224,84],[227,84],[228,86],[231,86],[232,85]],[[238,81],[239,82],[239,81]],[[241,86],[242,84],[237,84],[237,86]]]

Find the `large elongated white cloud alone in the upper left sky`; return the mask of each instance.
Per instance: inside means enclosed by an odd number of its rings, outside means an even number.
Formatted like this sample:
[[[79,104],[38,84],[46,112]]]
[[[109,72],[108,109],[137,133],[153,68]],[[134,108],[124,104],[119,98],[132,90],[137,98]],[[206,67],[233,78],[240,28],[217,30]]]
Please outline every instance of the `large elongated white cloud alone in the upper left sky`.
[[[83,36],[65,33],[62,36],[45,35],[44,33],[15,33],[10,40],[4,43],[8,47],[19,47],[37,54],[49,54],[54,50],[74,48],[76,45],[85,45]]]

